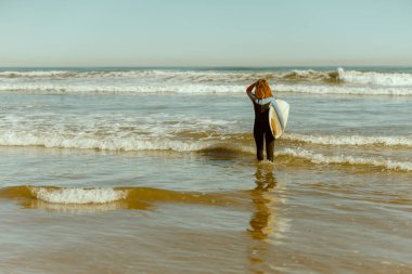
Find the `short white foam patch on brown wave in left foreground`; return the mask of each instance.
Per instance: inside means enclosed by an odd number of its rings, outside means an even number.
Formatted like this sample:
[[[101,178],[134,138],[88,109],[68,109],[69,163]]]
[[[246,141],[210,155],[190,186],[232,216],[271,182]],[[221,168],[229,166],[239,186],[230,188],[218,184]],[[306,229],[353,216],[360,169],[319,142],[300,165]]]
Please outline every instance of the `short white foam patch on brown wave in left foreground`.
[[[54,204],[105,204],[127,197],[127,191],[116,191],[111,187],[101,188],[48,188],[30,187],[38,199]]]

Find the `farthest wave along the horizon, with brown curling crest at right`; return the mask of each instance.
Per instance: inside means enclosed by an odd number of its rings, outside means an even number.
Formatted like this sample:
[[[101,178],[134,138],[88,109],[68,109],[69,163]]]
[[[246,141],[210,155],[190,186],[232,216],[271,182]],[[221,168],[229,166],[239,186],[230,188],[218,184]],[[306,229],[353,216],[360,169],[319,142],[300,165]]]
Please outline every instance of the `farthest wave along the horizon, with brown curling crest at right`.
[[[379,87],[412,87],[412,74],[345,70],[318,71],[313,69],[270,70],[196,70],[196,69],[129,69],[129,70],[30,70],[0,71],[0,79],[28,80],[143,80],[150,82],[236,83],[247,84],[259,78],[281,82],[355,83]],[[13,81],[14,82],[14,81]],[[275,82],[274,82],[275,83]]]

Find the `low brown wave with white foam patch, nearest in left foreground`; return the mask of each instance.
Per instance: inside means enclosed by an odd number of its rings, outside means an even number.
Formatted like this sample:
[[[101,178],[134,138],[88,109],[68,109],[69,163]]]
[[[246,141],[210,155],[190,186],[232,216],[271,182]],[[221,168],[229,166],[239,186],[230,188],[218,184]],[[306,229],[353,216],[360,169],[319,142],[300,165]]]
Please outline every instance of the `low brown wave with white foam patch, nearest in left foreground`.
[[[25,207],[46,209],[150,209],[153,203],[184,203],[214,206],[233,205],[232,195],[170,191],[155,187],[57,187],[17,185],[0,188],[0,198],[20,200]],[[59,205],[70,206],[61,207]],[[110,206],[106,206],[110,205]],[[92,208],[90,208],[92,206]]]

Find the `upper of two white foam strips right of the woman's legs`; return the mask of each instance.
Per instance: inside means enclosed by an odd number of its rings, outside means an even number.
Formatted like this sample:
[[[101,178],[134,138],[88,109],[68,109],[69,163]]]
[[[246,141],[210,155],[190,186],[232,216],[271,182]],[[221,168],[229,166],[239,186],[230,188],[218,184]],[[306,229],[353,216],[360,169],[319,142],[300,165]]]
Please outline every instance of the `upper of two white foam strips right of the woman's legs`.
[[[286,140],[324,145],[375,145],[385,146],[412,146],[412,139],[407,136],[336,136],[336,135],[304,135],[288,133],[283,136]]]

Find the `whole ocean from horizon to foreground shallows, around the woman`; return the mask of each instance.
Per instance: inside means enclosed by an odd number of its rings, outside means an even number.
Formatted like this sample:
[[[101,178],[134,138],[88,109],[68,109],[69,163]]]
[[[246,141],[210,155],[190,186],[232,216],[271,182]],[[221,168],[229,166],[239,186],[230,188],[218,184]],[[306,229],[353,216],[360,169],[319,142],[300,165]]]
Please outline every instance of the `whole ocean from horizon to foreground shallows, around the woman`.
[[[1,68],[0,273],[412,273],[411,103],[411,67]]]

